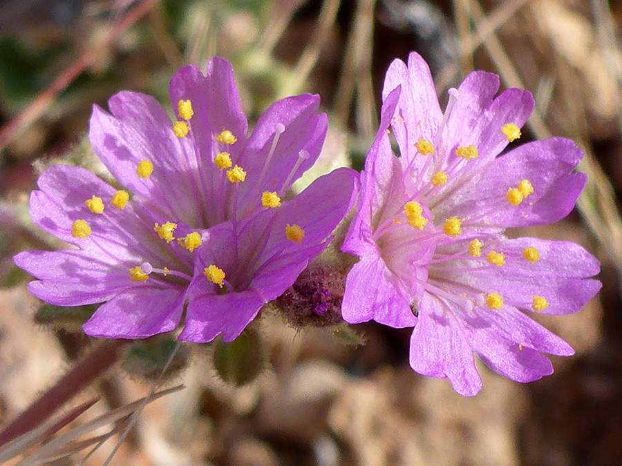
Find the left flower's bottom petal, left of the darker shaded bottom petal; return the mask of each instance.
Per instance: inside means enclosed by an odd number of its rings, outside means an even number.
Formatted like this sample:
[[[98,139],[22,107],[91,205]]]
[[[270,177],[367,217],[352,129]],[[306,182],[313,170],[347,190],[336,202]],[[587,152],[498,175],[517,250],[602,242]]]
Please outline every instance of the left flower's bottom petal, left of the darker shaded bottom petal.
[[[102,338],[147,338],[176,329],[183,304],[177,290],[133,288],[102,304],[82,329]]]

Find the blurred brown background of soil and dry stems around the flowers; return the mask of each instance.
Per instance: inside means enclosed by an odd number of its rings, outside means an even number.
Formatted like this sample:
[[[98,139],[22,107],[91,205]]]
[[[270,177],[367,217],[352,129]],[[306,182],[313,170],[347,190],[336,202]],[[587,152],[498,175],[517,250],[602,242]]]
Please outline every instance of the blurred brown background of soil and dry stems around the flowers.
[[[448,381],[410,369],[408,329],[299,331],[265,311],[225,356],[212,344],[182,347],[166,386],[185,389],[144,409],[111,464],[622,463],[621,24],[622,3],[605,0],[2,1],[0,424],[96,344],[79,330],[93,309],[41,307],[11,260],[58,246],[30,224],[28,195],[59,160],[97,170],[85,139],[93,103],[105,107],[126,89],[169,105],[178,67],[205,69],[220,55],[234,66],[251,123],[276,99],[319,93],[332,128],[327,163],[361,168],[384,72],[415,50],[442,106],[470,70],[493,71],[502,88],[536,98],[521,142],[563,136],[585,151],[576,211],[512,233],[572,240],[601,260],[603,291],[585,309],[538,316],[576,356],[553,358],[554,375],[529,385],[480,365],[484,388],[462,398]],[[145,396],[170,351],[160,337],[124,353],[75,398],[99,401],[72,425]],[[241,362],[223,370],[223,358]],[[104,463],[118,438],[84,464]]]

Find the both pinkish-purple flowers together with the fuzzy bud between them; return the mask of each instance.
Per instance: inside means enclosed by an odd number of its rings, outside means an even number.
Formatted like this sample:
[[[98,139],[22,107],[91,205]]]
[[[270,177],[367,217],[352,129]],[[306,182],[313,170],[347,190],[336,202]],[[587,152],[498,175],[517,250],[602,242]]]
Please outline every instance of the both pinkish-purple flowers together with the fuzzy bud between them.
[[[296,327],[334,324],[341,304],[352,324],[413,327],[411,367],[462,395],[482,385],[473,354],[536,380],[552,373],[543,353],[573,351],[529,313],[581,309],[601,287],[590,278],[600,265],[571,242],[505,235],[565,217],[585,175],[567,139],[503,153],[534,101],[498,89],[496,75],[473,72],[442,112],[425,61],[395,60],[360,182],[339,168],[292,197],[326,137],[319,97],[276,102],[247,136],[231,65],[187,66],[171,80],[173,121],[140,93],[112,97],[111,113],[93,108],[89,139],[121,188],[77,166],[48,168],[30,215],[74,247],[15,262],[42,300],[103,303],[84,324],[92,336],[146,338],[183,320],[180,340],[230,342],[266,302],[288,307]],[[341,250],[359,262],[308,267],[357,191]]]

